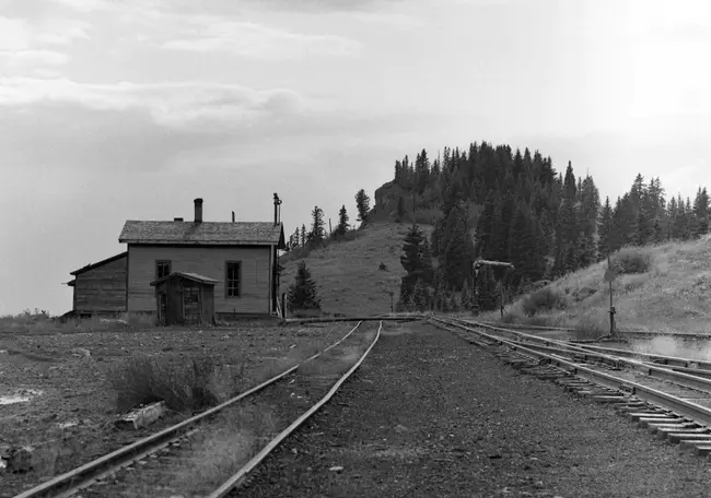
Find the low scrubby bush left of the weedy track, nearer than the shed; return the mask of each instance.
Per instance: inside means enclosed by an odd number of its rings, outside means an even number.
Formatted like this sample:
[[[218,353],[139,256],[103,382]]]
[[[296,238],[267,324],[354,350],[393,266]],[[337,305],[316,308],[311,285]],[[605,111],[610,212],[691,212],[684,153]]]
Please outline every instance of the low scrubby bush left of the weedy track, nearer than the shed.
[[[210,389],[214,367],[209,356],[130,358],[109,376],[116,407],[125,412],[163,400],[170,410],[183,412],[217,404],[218,395]]]

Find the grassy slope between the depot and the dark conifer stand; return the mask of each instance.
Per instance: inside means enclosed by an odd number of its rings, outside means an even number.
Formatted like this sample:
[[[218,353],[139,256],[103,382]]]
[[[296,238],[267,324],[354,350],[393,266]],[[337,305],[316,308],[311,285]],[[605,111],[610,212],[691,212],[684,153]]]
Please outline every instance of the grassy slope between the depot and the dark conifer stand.
[[[306,260],[318,285],[322,309],[325,313],[376,315],[391,311],[387,290],[399,293],[403,241],[411,225],[374,223],[349,234],[350,240],[330,242],[324,249],[312,250],[304,257],[300,249],[281,258],[284,266],[281,290],[287,292],[294,281],[296,265]],[[429,225],[420,226],[428,235]],[[384,263],[386,270],[380,270]]]

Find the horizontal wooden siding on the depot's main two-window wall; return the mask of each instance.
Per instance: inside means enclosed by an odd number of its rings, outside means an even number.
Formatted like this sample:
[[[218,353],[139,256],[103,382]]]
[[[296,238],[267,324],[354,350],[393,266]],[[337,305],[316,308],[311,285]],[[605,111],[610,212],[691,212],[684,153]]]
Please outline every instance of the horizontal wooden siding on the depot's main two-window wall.
[[[190,272],[217,280],[218,313],[268,313],[270,247],[137,246],[129,244],[128,310],[154,312],[155,261],[170,260],[171,271]],[[242,261],[241,296],[225,296],[225,262]]]

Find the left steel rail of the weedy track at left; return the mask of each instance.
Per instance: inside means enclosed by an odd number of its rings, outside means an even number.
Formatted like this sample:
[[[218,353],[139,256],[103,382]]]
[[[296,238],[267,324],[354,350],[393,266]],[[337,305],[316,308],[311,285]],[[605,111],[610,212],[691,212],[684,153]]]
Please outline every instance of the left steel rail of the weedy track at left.
[[[165,447],[170,442],[179,438],[184,432],[186,432],[191,427],[196,426],[199,422],[207,419],[208,417],[223,411],[228,406],[231,406],[238,401],[244,400],[245,398],[261,391],[268,386],[277,382],[289,374],[295,371],[300,366],[319,357],[322,354],[327,351],[336,347],[338,344],[348,339],[353,332],[358,330],[362,321],[359,321],[350,332],[343,335],[340,340],[326,347],[320,353],[306,358],[302,363],[294,365],[293,367],[282,371],[281,374],[261,382],[260,384],[241,393],[240,395],[232,398],[231,400],[225,401],[212,408],[209,408],[198,415],[191,416],[178,424],[175,424],[171,427],[167,427],[156,434],[148,436],[145,438],[139,439],[128,446],[119,448],[108,454],[100,456],[96,460],[93,460],[84,465],[81,465],[74,470],[60,474],[38,486],[35,486],[31,489],[27,489],[20,495],[15,495],[14,498],[39,498],[39,497],[58,497],[58,496],[69,496],[75,489],[83,487],[88,482],[94,481],[96,477],[106,473],[107,471],[118,469],[127,465],[129,462],[140,460],[147,454],[153,453],[161,448]],[[61,495],[60,495],[61,494]]]

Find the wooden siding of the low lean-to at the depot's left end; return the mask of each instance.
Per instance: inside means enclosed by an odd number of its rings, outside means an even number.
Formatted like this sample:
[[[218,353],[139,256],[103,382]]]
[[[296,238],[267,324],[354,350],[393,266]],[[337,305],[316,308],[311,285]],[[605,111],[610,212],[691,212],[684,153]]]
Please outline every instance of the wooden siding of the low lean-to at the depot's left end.
[[[124,257],[79,273],[74,284],[74,310],[82,313],[126,311],[126,274]]]

